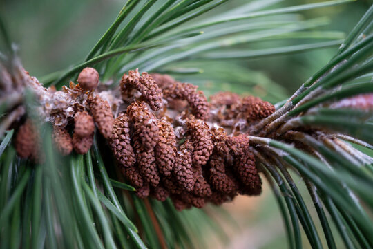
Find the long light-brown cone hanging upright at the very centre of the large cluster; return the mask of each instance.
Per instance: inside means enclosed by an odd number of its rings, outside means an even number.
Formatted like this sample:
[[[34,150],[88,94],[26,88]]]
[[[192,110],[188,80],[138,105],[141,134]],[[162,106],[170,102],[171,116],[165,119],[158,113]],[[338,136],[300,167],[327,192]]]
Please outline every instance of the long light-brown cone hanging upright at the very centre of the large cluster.
[[[171,176],[176,157],[176,136],[171,123],[167,120],[159,120],[159,140],[155,146],[155,161],[163,176]]]

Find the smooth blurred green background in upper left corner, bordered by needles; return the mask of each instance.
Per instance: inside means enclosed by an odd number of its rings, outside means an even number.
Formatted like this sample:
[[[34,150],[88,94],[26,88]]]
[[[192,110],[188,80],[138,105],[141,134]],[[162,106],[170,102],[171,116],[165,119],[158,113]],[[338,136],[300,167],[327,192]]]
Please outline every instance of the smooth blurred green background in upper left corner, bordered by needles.
[[[0,1],[1,15],[26,70],[40,77],[82,60],[123,1]]]

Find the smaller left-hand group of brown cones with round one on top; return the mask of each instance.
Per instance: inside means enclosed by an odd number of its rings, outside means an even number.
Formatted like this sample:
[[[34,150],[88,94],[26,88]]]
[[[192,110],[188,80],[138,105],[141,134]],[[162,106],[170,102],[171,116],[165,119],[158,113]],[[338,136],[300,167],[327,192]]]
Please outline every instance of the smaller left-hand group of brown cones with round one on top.
[[[111,137],[114,116],[110,104],[95,93],[99,73],[94,68],[84,68],[78,77],[79,84],[70,82],[69,87],[64,86],[61,91],[44,89],[35,78],[32,78],[32,82],[36,94],[41,89],[39,102],[44,103],[44,107],[37,111],[41,118],[52,122],[52,140],[62,156],[67,156],[73,150],[86,154],[93,145],[95,126],[104,138]],[[40,150],[41,143],[37,142],[39,136],[34,130],[35,125],[28,119],[18,129],[15,147],[21,158],[37,162],[39,157],[36,151]]]

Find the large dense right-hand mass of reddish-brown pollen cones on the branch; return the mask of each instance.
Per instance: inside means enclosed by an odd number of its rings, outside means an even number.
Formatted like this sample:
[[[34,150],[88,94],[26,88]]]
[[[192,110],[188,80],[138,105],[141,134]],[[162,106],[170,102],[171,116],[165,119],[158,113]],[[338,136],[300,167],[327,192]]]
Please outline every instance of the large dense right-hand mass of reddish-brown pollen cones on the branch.
[[[109,143],[137,196],[170,197],[183,210],[260,194],[247,132],[274,112],[269,102],[235,93],[208,102],[198,86],[137,70],[123,75],[120,93],[126,104]]]

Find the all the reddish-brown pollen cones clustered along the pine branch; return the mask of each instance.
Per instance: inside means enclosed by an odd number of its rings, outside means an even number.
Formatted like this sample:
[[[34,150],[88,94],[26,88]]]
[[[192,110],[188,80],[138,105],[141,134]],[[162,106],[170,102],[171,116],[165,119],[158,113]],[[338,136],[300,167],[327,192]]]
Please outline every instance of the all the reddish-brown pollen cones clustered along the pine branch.
[[[97,91],[93,68],[85,68],[78,82],[62,91],[45,90],[64,103],[44,113],[54,124],[52,138],[62,155],[73,150],[85,154],[97,130],[137,196],[170,198],[177,210],[260,194],[248,133],[252,124],[274,112],[269,102],[229,92],[208,102],[198,86],[137,70],[124,74],[116,90],[99,86]],[[35,154],[31,145],[37,138],[31,130],[28,123],[19,128],[19,156]]]

